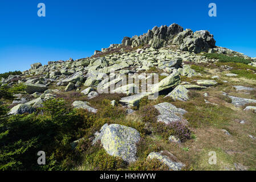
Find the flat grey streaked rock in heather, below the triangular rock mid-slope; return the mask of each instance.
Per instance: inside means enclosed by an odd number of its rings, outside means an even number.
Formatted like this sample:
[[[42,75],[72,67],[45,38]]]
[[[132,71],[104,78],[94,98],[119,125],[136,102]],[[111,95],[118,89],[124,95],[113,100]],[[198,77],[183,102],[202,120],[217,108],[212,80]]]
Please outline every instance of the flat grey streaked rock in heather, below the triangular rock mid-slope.
[[[185,114],[186,111],[184,109],[177,108],[176,106],[168,103],[162,102],[154,106],[160,113],[157,116],[158,122],[164,122],[165,124],[169,124],[175,121],[182,120],[182,114]]]

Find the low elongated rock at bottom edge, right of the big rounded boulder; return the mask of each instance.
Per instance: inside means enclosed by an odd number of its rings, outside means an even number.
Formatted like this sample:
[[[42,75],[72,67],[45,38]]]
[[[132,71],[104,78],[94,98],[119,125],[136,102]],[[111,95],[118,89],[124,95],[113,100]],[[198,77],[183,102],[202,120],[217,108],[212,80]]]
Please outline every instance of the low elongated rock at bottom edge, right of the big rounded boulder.
[[[170,154],[169,154],[170,155]],[[147,159],[158,159],[160,162],[166,164],[170,170],[180,171],[185,165],[182,163],[173,162],[168,156],[163,155],[162,152],[151,152]]]

